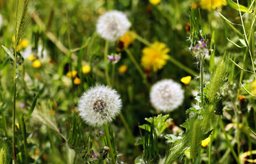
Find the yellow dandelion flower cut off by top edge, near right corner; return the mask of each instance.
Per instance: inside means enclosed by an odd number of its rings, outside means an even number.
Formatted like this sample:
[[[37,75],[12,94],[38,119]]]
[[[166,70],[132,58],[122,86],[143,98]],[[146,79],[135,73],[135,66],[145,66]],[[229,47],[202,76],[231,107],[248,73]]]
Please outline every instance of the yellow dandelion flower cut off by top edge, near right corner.
[[[226,0],[201,0],[200,5],[203,9],[211,11],[216,8],[222,8],[223,5],[227,5]]]

